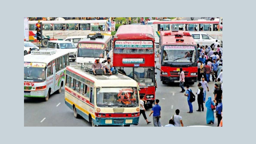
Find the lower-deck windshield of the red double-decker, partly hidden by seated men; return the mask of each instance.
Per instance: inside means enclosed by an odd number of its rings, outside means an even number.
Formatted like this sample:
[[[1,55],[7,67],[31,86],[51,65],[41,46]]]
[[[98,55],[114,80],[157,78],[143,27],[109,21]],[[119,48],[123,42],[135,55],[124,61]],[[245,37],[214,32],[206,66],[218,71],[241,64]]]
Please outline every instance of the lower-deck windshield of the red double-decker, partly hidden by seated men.
[[[154,86],[155,73],[152,67],[117,67],[118,72],[123,75],[129,76],[138,82],[139,86]]]

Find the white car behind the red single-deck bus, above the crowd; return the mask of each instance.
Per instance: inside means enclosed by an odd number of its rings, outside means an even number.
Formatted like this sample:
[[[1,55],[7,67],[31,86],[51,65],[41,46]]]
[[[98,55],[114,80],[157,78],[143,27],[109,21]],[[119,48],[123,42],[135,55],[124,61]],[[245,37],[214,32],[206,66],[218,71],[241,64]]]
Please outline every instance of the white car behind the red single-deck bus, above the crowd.
[[[190,34],[193,36],[196,44],[199,44],[200,46],[212,46],[216,42],[217,39],[213,38],[212,36],[201,33],[201,32],[190,32]],[[222,41],[218,40],[219,45],[222,47]]]

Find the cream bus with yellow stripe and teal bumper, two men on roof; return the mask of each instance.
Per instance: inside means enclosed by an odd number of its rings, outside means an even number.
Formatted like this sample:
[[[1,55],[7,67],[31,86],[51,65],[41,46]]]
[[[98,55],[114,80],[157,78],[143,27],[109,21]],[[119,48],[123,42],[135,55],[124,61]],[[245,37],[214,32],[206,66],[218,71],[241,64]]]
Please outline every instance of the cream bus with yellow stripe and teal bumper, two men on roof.
[[[122,74],[94,76],[84,66],[66,68],[65,103],[77,118],[98,125],[137,125],[139,86]]]

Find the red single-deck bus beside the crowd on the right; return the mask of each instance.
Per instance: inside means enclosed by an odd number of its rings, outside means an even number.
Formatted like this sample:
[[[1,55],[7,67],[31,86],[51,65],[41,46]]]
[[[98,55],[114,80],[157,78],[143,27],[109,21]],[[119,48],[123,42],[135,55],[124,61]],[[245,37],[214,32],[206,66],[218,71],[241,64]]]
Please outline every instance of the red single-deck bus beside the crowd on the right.
[[[194,84],[197,78],[197,50],[193,37],[184,31],[161,31],[160,78],[163,84],[180,82],[180,68],[185,74],[185,82]]]

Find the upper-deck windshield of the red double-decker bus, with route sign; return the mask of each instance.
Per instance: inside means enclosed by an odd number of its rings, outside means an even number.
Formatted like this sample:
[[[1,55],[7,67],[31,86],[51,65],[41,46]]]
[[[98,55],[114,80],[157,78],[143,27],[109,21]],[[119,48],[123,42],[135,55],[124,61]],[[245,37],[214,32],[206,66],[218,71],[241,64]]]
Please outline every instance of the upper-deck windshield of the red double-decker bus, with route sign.
[[[153,53],[152,41],[119,41],[115,42],[115,53],[142,54]]]

